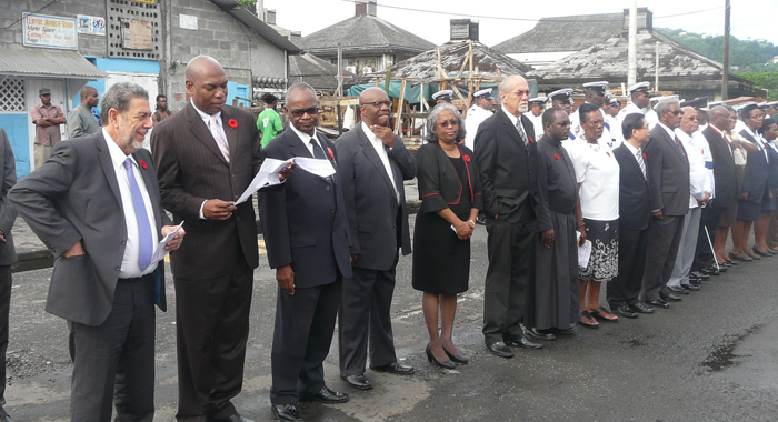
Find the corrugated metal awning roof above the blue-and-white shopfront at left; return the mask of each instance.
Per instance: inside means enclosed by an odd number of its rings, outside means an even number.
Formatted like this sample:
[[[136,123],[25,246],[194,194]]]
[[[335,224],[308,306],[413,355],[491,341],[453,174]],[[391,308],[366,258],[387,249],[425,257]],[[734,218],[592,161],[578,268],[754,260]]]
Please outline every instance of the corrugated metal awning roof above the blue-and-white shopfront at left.
[[[76,51],[19,50],[0,54],[0,74],[103,79],[107,73]]]

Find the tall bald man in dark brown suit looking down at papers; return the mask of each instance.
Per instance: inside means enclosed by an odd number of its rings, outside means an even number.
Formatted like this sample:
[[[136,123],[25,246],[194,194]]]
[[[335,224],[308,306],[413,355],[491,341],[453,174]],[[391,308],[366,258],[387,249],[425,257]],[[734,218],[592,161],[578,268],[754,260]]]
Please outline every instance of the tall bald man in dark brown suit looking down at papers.
[[[253,269],[252,201],[235,205],[262,162],[249,112],[226,105],[221,64],[187,66],[191,101],[151,134],[162,205],[189,233],[171,257],[176,284],[179,421],[249,421],[230,402],[243,382]]]

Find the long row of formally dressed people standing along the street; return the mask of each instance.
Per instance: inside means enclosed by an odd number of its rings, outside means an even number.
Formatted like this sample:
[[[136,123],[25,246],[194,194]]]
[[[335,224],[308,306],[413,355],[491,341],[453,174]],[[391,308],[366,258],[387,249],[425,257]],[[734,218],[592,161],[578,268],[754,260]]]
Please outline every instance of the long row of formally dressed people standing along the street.
[[[227,105],[227,83],[219,62],[196,57],[186,71],[191,100],[177,113],[163,97],[152,113],[136,84],[112,86],[102,127],[56,143],[0,201],[0,243],[12,248],[18,211],[54,253],[46,309],[70,328],[73,421],[108,422],[113,408],[121,421],[153,419],[154,304],[166,310],[167,301],[163,261],[152,252],[164,239],[176,418],[251,422],[231,400],[242,388],[259,251],[252,201],[237,200],[266,159],[288,161],[258,194],[278,281],[270,402],[283,421],[302,419],[300,401],[349,400],[325,381],[336,324],[339,375],[350,388],[373,388],[368,368],[415,372],[398,360],[390,318],[397,265],[411,250],[429,362],[471,361],[453,326],[479,221],[489,261],[482,334],[500,358],[576,335],[576,326],[669,308],[711,275],[778,254],[778,124],[758,104],[739,118],[705,99],[650,107],[642,82],[621,109],[607,82],[594,82],[572,111],[571,89],[530,99],[527,81],[510,76],[497,99],[476,92],[467,119],[438,94],[413,157],[390,128],[392,102],[380,88],[359,96],[361,122],[333,142],[317,130],[310,86],[288,89],[285,130],[278,115],[256,121]],[[99,99],[92,89],[81,97],[72,119],[91,127]],[[41,123],[63,120],[40,113],[54,119]],[[149,152],[142,142],[152,127]],[[326,160],[335,173],[313,174],[296,158]],[[415,178],[421,203],[411,235],[403,181]],[[2,185],[14,182],[9,173]]]

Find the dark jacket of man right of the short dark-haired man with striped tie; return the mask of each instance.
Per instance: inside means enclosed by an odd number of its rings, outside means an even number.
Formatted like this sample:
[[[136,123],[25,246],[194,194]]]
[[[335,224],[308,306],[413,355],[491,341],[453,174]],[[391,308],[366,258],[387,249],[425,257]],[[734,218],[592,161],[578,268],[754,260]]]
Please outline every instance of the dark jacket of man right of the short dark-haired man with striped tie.
[[[661,210],[664,215],[689,213],[689,162],[682,148],[659,124],[651,130],[644,147],[651,210]]]

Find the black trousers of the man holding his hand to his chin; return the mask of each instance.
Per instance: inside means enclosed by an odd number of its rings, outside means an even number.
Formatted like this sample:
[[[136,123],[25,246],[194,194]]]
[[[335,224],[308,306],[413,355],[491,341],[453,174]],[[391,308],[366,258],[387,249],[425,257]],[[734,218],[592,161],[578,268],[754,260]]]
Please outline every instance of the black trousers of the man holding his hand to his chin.
[[[368,343],[370,366],[397,362],[390,315],[396,269],[397,259],[387,271],[353,268],[353,277],[343,279],[338,314],[340,376],[365,373]]]

